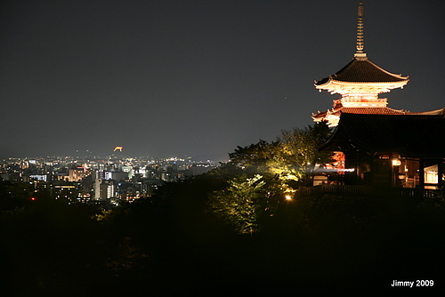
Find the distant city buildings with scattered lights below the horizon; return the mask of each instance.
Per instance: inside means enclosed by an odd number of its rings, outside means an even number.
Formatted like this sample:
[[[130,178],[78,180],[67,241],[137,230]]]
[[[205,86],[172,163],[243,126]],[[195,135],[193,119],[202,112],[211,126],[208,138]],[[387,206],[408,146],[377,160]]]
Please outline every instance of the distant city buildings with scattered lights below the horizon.
[[[119,201],[151,197],[165,182],[181,181],[215,167],[216,162],[210,160],[180,157],[23,157],[1,161],[0,178],[24,181],[35,192],[47,190],[54,199],[69,204],[119,205]]]

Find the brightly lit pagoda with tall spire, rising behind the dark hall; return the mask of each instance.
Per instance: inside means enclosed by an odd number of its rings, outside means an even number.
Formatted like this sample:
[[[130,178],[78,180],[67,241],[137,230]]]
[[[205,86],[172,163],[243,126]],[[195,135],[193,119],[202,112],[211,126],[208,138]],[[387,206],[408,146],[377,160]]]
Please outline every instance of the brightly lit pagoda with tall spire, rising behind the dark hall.
[[[328,111],[312,114],[315,122],[326,121],[329,126],[336,126],[342,113],[403,115],[404,110],[386,107],[386,98],[378,94],[390,92],[408,84],[409,77],[392,74],[368,60],[364,52],[363,3],[360,1],[357,21],[357,44],[354,59],[336,74],[315,81],[315,87],[331,94],[340,94],[334,100],[334,107]]]

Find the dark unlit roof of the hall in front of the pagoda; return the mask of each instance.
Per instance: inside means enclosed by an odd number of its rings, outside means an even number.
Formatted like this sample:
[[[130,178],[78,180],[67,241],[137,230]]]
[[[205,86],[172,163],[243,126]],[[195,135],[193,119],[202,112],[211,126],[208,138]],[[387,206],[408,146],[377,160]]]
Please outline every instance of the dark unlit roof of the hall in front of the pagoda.
[[[359,148],[394,151],[405,157],[445,157],[445,117],[344,114],[320,150]]]

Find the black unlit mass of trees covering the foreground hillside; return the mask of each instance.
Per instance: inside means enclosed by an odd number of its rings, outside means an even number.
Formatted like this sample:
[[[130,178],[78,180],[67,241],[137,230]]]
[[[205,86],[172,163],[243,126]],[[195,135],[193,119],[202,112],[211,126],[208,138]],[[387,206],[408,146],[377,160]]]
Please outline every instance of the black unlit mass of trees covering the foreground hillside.
[[[3,209],[3,295],[428,295],[443,289],[441,200],[382,194],[281,201],[261,222],[262,232],[240,236],[207,208],[208,194],[225,189],[231,174],[219,169],[167,183],[155,197],[116,208],[101,221],[93,206],[44,197]],[[394,279],[435,285],[393,288]]]

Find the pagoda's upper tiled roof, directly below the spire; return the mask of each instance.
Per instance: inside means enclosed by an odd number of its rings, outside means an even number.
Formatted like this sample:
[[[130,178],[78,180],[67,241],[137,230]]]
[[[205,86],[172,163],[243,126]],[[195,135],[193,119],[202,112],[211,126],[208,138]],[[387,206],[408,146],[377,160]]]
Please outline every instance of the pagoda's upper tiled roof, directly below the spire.
[[[315,85],[328,84],[329,81],[344,83],[403,83],[409,81],[409,76],[401,76],[384,70],[365,57],[354,57],[336,74],[315,82]]]

